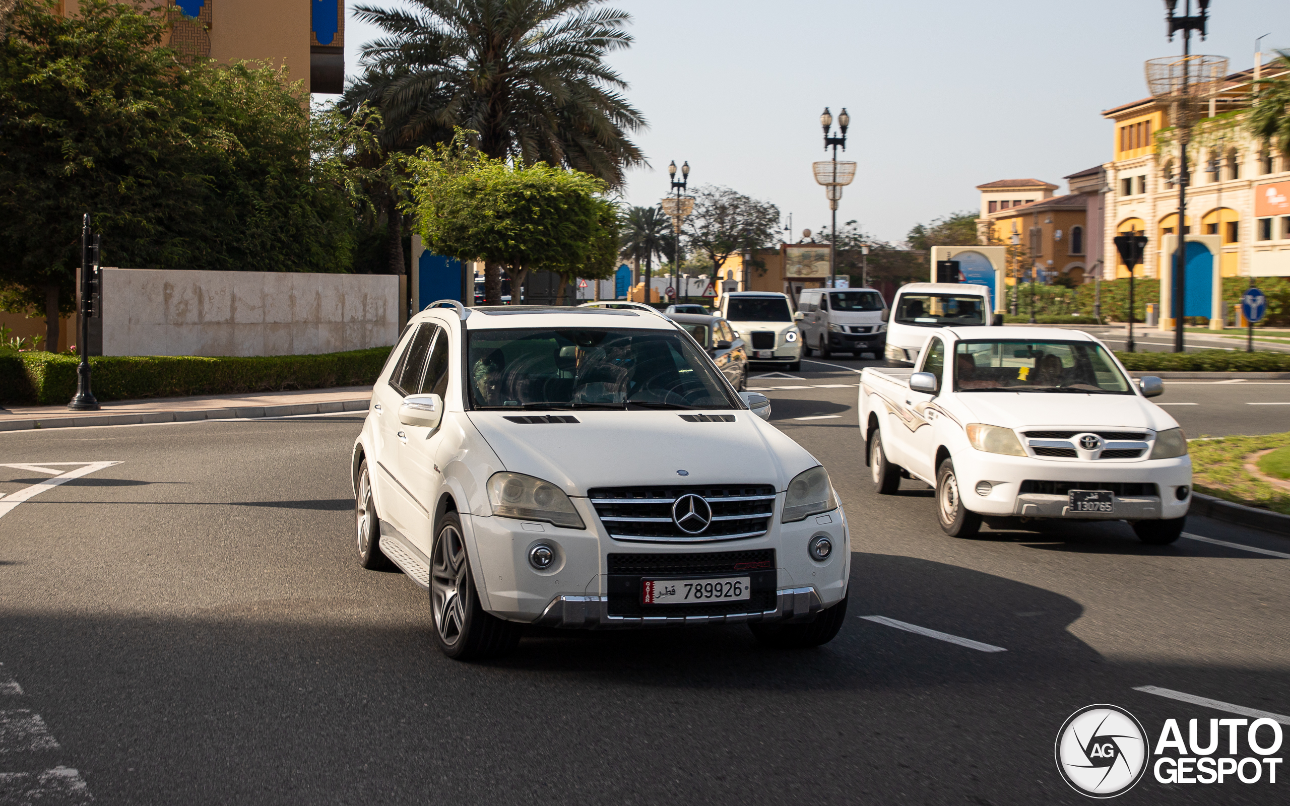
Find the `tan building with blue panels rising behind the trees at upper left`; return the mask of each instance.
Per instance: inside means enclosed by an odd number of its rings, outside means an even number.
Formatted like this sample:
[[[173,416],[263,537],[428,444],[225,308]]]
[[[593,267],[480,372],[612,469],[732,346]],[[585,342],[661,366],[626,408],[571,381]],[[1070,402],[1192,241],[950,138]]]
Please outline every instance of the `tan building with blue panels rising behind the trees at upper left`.
[[[219,62],[285,66],[311,93],[344,89],[344,0],[151,0],[172,12],[166,45]],[[64,14],[79,0],[61,0]]]

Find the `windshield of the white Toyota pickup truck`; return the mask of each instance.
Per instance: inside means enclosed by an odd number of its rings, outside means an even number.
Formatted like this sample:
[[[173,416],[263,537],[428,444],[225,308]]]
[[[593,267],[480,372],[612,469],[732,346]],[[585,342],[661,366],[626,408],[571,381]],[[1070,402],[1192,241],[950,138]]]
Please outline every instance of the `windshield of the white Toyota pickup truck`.
[[[1093,342],[958,342],[956,392],[1133,395],[1107,351]]]

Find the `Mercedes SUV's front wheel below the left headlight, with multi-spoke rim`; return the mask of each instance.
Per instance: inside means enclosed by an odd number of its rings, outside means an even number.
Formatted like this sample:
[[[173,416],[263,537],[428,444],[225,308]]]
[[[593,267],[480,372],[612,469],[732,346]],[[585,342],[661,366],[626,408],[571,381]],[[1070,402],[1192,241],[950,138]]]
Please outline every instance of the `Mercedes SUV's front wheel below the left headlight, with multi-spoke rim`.
[[[520,642],[520,624],[489,615],[480,605],[455,512],[440,520],[431,549],[430,611],[435,641],[454,660],[499,658]]]

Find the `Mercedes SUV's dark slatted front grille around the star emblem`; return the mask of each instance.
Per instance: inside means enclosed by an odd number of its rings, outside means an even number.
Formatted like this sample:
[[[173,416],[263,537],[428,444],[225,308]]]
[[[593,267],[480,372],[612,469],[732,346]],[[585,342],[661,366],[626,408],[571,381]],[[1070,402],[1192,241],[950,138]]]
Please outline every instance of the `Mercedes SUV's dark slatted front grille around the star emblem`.
[[[676,525],[672,504],[694,493],[712,509],[707,529],[690,534]],[[635,543],[712,543],[766,534],[775,512],[775,487],[717,485],[675,487],[596,487],[591,504],[610,536]]]

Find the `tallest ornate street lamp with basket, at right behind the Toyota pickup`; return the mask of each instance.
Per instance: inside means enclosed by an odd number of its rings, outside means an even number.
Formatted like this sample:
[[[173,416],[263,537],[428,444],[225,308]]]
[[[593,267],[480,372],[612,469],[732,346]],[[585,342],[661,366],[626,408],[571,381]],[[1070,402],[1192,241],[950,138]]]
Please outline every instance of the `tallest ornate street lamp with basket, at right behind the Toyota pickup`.
[[[1147,85],[1151,94],[1169,103],[1170,121],[1178,132],[1178,251],[1174,255],[1171,304],[1174,316],[1174,352],[1183,352],[1187,319],[1187,184],[1191,170],[1187,166],[1187,142],[1192,124],[1200,116],[1201,101],[1216,95],[1227,76],[1227,58],[1220,55],[1192,55],[1192,31],[1204,40],[1209,22],[1209,0],[1197,0],[1197,13],[1192,14],[1192,0],[1183,0],[1183,15],[1175,17],[1178,0],[1165,0],[1165,22],[1169,23],[1169,41],[1183,32],[1183,55],[1165,57],[1147,62]]]

